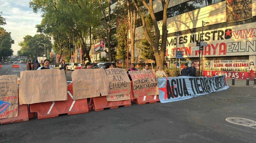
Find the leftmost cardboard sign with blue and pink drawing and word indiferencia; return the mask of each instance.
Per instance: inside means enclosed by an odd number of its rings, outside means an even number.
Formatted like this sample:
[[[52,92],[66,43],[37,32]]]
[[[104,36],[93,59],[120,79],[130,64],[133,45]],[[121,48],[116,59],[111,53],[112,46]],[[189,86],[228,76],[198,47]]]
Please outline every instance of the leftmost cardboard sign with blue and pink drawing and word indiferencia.
[[[18,116],[17,75],[0,76],[0,119]]]

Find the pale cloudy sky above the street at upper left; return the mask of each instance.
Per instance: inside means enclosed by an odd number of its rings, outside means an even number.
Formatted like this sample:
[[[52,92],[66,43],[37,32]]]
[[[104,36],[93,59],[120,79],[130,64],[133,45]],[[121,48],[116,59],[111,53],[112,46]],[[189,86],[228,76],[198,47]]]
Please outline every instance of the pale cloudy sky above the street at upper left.
[[[11,37],[15,44],[12,45],[13,54],[17,54],[20,50],[19,42],[23,41],[26,35],[34,36],[36,32],[36,24],[41,23],[40,14],[33,12],[29,8],[30,0],[0,0],[0,11],[2,16],[6,18],[6,25],[2,25],[7,32],[11,32]]]

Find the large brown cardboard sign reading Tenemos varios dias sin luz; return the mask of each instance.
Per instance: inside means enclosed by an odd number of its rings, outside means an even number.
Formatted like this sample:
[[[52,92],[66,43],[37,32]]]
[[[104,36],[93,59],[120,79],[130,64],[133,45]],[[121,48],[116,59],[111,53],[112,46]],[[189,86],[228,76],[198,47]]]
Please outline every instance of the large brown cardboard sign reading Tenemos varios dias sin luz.
[[[64,70],[42,69],[20,72],[19,104],[67,100]]]

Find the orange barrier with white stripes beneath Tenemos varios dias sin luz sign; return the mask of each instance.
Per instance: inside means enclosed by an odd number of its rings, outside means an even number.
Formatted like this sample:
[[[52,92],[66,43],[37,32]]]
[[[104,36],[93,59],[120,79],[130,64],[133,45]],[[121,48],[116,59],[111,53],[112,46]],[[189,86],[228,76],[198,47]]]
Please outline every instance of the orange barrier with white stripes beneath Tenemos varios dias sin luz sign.
[[[68,100],[30,104],[30,112],[37,112],[37,119],[58,117],[59,114],[88,113],[87,99],[73,100],[72,85],[68,85]]]

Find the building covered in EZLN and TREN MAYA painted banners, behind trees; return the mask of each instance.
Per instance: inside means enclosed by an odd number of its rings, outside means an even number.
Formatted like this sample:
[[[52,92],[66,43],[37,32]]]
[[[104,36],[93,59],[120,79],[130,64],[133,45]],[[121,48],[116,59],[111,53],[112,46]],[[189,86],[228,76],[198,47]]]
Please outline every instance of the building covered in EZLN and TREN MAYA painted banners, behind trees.
[[[155,0],[153,5],[161,32],[161,1]],[[183,51],[181,63],[194,62],[199,67],[196,43],[204,42],[201,43],[205,45],[201,59],[204,76],[226,74],[227,78],[254,79],[256,0],[173,0],[169,3],[167,16],[167,65],[175,63],[177,50]],[[136,32],[137,40],[143,37],[141,27],[137,27]],[[135,57],[140,58],[136,49]]]

